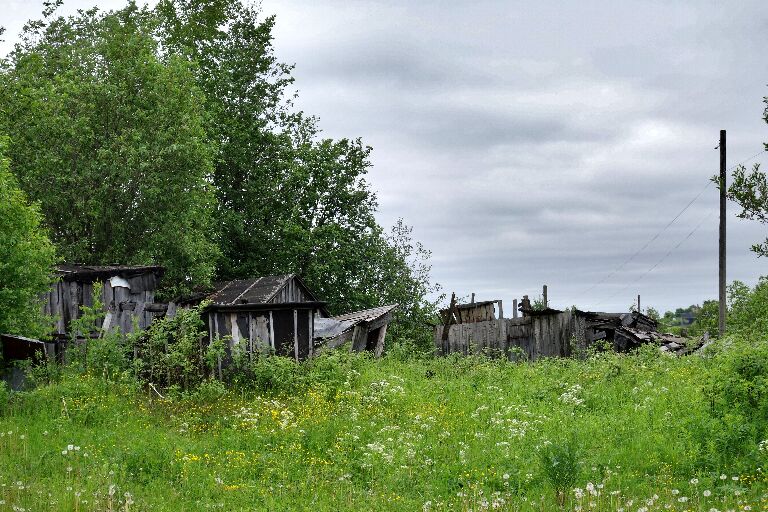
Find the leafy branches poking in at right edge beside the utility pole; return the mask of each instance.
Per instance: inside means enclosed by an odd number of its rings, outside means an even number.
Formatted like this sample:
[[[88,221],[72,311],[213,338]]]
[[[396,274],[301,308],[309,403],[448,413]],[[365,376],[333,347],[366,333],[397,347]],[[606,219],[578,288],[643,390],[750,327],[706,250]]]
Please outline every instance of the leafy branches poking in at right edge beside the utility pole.
[[[763,119],[768,123],[768,96],[763,98],[763,102]],[[765,150],[768,151],[768,143]],[[733,182],[728,187],[727,195],[742,208],[738,214],[740,218],[768,224],[768,178],[760,170],[760,164],[755,164],[750,171],[743,165],[739,166],[733,172]],[[768,256],[768,238],[754,244],[752,251],[758,256]]]

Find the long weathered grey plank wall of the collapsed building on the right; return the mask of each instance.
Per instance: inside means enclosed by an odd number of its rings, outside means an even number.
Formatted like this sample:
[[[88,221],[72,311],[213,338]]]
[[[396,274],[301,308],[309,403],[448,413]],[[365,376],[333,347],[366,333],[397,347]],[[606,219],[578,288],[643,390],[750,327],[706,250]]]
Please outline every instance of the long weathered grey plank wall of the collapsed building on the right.
[[[451,325],[443,340],[443,326],[435,328],[435,346],[442,354],[488,353],[514,358],[522,351],[528,359],[568,357],[572,341],[584,344],[586,325],[581,315],[563,311],[550,315],[525,316]],[[519,349],[519,350],[516,350]]]

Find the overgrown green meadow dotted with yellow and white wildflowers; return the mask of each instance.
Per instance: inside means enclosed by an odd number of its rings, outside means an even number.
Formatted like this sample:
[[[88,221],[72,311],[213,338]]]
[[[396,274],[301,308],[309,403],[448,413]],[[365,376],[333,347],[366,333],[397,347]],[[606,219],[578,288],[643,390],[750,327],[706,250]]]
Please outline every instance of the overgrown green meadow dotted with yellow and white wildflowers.
[[[258,362],[0,392],[0,510],[768,510],[768,349]]]

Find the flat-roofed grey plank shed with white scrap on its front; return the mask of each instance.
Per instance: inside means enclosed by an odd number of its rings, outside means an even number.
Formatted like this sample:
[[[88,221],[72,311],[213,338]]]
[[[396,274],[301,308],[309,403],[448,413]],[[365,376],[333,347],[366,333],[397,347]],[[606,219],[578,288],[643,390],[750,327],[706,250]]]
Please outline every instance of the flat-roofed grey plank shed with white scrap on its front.
[[[80,318],[81,307],[93,306],[93,289],[102,283],[105,317],[99,327],[132,332],[134,322],[146,329],[165,310],[154,307],[155,289],[163,267],[130,265],[73,265],[56,268],[57,281],[43,297],[43,313],[55,319],[54,338],[66,339],[69,324]]]

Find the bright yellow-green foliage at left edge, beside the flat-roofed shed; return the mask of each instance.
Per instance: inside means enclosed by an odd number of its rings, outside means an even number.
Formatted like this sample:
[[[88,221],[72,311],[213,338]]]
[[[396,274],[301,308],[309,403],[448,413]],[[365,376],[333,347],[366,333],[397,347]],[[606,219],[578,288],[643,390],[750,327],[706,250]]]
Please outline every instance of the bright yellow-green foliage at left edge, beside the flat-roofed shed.
[[[43,335],[40,295],[50,288],[55,250],[10,171],[7,145],[0,137],[0,333]]]

